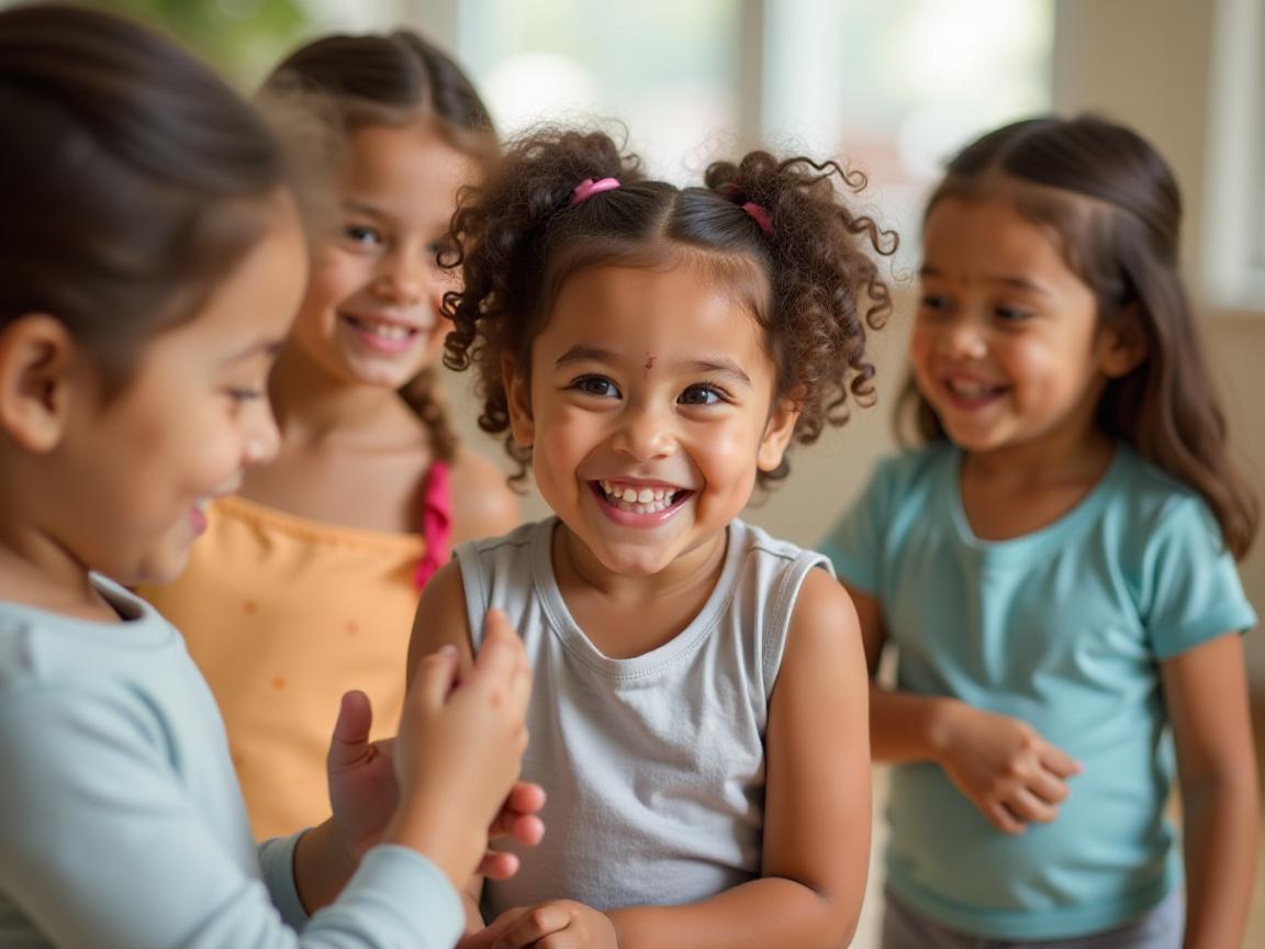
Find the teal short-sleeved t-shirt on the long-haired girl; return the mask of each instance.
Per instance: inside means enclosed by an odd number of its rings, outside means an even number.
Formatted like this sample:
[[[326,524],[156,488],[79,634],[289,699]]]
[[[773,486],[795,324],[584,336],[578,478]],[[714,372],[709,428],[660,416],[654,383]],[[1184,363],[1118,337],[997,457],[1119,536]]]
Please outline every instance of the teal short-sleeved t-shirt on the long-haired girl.
[[[880,462],[822,552],[879,602],[898,688],[1022,719],[1084,771],[1054,822],[1008,835],[939,766],[893,768],[889,884],[980,936],[1109,929],[1180,882],[1159,663],[1256,616],[1202,499],[1127,445],[1077,507],[1006,542],[972,533],[960,462]]]

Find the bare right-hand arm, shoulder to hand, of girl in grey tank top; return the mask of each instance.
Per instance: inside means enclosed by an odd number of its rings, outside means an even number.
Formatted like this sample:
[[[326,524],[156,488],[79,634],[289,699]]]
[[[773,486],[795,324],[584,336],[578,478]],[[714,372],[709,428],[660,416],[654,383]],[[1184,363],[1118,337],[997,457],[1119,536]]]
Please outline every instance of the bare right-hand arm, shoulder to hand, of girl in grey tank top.
[[[520,949],[549,933],[587,949],[846,945],[869,863],[865,657],[848,596],[806,578],[769,706],[760,879],[686,906],[600,914],[572,901],[510,911],[471,945]],[[597,857],[595,855],[595,859]]]

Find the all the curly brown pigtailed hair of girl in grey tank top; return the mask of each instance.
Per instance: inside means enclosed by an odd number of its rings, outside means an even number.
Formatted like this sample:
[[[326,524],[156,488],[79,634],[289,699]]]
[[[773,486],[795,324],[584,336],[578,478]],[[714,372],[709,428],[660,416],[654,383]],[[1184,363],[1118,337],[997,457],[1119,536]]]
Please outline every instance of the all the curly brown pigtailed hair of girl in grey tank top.
[[[571,206],[578,183],[607,177],[620,187]],[[603,132],[545,127],[511,143],[496,175],[463,195],[454,249],[440,263],[459,267],[463,286],[444,297],[455,326],[444,363],[474,367],[479,428],[505,435],[520,466],[515,481],[531,449],[509,434],[502,364],[510,357],[530,367],[531,344],[563,281],[583,268],[697,254],[717,277],[745,287],[737,292],[765,330],[777,367],[774,397],[799,407],[794,442],[812,444],[826,425],[842,425],[849,395],[872,404],[867,330],[883,325],[892,302],[870,251],[894,253],[897,237],[845,202],[842,192],[865,183],[832,161],[756,151],[715,162],[702,186],[681,189],[646,180],[636,156]],[[768,211],[770,233],[744,210],[748,202]],[[758,481],[763,487],[788,471],[783,459]]]

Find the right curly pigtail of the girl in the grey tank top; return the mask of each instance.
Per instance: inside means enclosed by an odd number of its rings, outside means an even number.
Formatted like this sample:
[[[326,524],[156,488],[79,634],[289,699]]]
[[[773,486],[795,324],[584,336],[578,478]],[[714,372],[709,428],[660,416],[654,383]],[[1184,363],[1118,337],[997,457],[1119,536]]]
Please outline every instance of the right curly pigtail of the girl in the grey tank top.
[[[781,396],[799,404],[794,440],[812,444],[826,425],[848,420],[849,395],[861,406],[874,402],[867,330],[883,326],[892,299],[873,254],[893,254],[898,238],[848,206],[841,192],[856,194],[867,180],[837,162],[751,152],[737,163],[711,164],[703,181],[764,232],[773,275],[764,323]],[[787,471],[783,461],[767,477]]]

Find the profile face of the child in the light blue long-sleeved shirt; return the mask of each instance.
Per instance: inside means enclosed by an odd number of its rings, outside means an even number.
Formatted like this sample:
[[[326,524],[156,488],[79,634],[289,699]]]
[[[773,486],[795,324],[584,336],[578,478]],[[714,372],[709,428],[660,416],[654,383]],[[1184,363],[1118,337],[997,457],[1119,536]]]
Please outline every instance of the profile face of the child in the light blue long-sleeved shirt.
[[[278,202],[269,233],[196,316],[147,345],[126,388],[72,414],[58,453],[80,562],[125,583],[185,568],[207,500],[276,452],[267,377],[306,276],[297,215]]]

